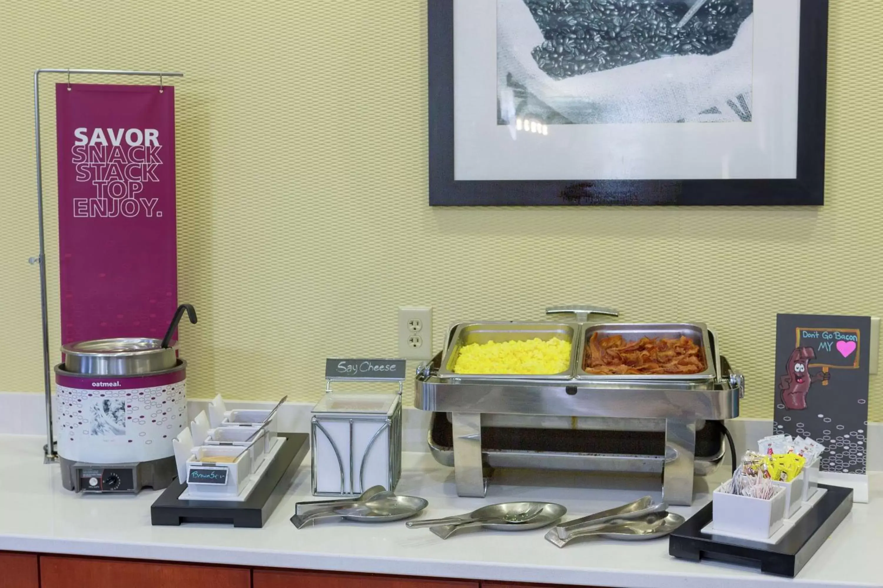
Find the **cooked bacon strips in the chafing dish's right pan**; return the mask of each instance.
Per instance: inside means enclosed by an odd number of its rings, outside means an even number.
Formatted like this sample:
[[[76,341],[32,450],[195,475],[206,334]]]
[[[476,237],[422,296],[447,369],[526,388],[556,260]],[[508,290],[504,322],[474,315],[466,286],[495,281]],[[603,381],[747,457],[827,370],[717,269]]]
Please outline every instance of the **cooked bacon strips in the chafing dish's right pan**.
[[[585,348],[584,368],[589,374],[645,375],[698,374],[706,366],[701,349],[690,338],[651,339],[627,342],[622,335],[599,339],[593,332]]]

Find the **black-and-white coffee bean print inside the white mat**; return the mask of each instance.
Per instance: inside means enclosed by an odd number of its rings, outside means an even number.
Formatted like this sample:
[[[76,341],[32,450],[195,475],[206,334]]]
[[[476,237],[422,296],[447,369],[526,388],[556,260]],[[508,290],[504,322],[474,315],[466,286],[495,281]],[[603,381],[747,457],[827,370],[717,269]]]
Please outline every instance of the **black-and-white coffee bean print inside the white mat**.
[[[754,0],[497,0],[498,124],[748,123]]]

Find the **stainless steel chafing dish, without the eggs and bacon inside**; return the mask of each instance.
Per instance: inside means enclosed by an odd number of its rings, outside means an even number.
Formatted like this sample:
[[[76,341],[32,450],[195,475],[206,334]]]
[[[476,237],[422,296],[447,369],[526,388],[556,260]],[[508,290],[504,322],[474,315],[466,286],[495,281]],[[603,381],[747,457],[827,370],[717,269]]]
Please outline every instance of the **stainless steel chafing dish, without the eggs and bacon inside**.
[[[434,412],[430,449],[454,466],[457,494],[484,496],[493,467],[658,472],[663,499],[690,504],[694,473],[710,473],[723,458],[721,421],[738,416],[743,377],[729,369],[705,324],[592,324],[590,314],[618,313],[547,309],[562,312],[577,321],[454,324],[442,354],[418,368],[414,404]],[[586,373],[585,346],[596,331],[626,340],[684,335],[700,347],[706,369],[676,376]],[[534,337],[569,340],[570,368],[548,376],[453,371],[464,345]]]

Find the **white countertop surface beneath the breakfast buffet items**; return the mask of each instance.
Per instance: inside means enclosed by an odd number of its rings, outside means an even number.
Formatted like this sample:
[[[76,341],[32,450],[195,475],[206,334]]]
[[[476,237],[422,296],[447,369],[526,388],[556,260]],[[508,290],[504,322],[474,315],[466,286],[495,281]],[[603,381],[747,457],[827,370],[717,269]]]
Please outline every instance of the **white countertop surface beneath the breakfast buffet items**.
[[[668,540],[590,540],[559,549],[531,532],[463,532],[440,540],[403,523],[366,525],[331,520],[297,530],[289,522],[294,504],[310,495],[309,458],[289,494],[263,529],[228,525],[150,525],[159,495],[74,495],[61,488],[57,465],[42,464],[44,439],[0,435],[4,484],[0,487],[0,551],[95,555],[255,567],[326,569],[512,582],[629,586],[744,588],[746,585],[883,586],[883,496],[852,512],[794,579],[715,562],[688,562],[668,555]],[[724,474],[725,475],[725,474]],[[550,488],[540,488],[542,482]],[[878,485],[879,486],[879,485]],[[591,489],[590,489],[591,488]],[[704,481],[689,516],[707,501]],[[561,502],[568,517],[651,494],[653,478],[611,479],[588,474],[504,472],[486,499],[459,498],[453,470],[425,453],[406,453],[399,494],[429,501],[423,517],[443,517],[483,504],[513,499]],[[747,583],[750,584],[747,584]]]

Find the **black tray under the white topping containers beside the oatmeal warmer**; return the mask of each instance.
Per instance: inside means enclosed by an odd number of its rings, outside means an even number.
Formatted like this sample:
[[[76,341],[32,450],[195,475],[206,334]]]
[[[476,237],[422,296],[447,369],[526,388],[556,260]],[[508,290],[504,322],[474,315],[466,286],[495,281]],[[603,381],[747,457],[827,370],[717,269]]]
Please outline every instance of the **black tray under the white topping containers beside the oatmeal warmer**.
[[[213,500],[178,500],[187,488],[174,480],[169,488],[150,507],[153,525],[181,525],[181,523],[232,523],[235,527],[262,527],[282,500],[310,449],[310,435],[280,433],[285,441],[276,452],[267,472],[260,478],[252,494],[244,502]]]

